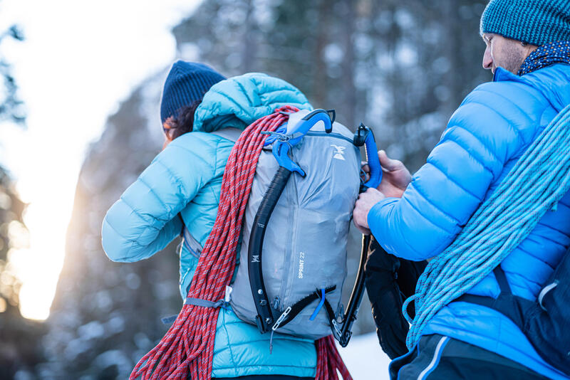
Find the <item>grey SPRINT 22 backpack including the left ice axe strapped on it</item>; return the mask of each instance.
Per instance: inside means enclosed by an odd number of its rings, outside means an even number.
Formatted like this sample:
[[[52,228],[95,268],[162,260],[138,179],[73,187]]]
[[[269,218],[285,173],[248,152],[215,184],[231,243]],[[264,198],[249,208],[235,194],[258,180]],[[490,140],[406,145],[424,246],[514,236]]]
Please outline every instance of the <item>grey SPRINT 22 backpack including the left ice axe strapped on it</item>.
[[[361,125],[355,135],[329,112],[290,115],[259,156],[226,301],[261,333],[319,339],[332,331],[341,340],[348,228],[361,189],[359,146],[369,130]],[[213,133],[239,137],[231,128]],[[196,245],[187,235],[184,243]],[[349,331],[343,345],[348,339]]]

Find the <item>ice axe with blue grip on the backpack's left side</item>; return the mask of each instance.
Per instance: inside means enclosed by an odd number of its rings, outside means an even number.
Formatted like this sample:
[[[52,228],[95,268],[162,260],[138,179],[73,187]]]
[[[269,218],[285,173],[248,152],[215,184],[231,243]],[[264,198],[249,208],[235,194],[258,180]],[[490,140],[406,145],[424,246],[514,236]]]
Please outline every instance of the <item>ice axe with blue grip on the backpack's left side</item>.
[[[325,123],[325,131],[330,133],[332,131],[333,117],[329,116],[326,110],[314,110],[303,117],[293,130],[287,131],[286,134],[274,133],[277,135],[277,139],[274,142],[273,155],[279,163],[279,169],[277,169],[275,176],[271,180],[271,184],[269,184],[255,214],[247,253],[249,284],[252,288],[254,304],[257,310],[255,322],[261,334],[279,326],[279,321],[274,324],[275,317],[267,297],[261,265],[267,223],[269,223],[271,213],[277,201],[279,201],[279,197],[281,197],[281,193],[285,189],[291,173],[296,171],[299,175],[306,176],[305,171],[289,157],[289,149],[298,144],[311,127],[321,120]]]

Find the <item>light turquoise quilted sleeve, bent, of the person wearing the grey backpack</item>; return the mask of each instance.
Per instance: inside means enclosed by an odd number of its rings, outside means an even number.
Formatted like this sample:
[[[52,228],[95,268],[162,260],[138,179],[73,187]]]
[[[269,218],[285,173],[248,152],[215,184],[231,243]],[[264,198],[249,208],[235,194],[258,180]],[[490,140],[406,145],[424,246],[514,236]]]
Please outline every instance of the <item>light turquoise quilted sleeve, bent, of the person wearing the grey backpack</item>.
[[[101,238],[111,260],[149,258],[180,235],[177,214],[214,176],[215,161],[204,154],[215,154],[216,148],[193,149],[199,144],[188,144],[192,138],[185,134],[171,142],[107,212]]]

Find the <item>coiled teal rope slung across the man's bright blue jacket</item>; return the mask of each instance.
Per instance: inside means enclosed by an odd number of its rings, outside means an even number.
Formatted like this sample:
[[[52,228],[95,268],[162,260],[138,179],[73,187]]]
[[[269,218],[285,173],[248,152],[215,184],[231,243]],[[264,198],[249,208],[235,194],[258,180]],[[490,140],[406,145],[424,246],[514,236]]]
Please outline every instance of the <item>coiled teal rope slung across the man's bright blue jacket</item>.
[[[415,347],[427,322],[504,260],[544,213],[570,189],[570,105],[524,152],[492,196],[475,211],[455,241],[425,268],[416,294],[403,305],[412,324],[406,345]],[[415,318],[407,308],[415,301]]]

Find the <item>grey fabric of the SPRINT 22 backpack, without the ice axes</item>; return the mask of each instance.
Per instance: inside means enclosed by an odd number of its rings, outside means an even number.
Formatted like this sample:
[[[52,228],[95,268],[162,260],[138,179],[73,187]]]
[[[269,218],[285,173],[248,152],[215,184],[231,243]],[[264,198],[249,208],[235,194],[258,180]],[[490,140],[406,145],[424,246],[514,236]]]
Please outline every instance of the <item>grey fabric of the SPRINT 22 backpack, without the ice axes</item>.
[[[289,125],[307,114],[304,110],[291,115]],[[240,319],[258,325],[266,321],[258,321],[258,297],[252,297],[257,287],[249,278],[252,265],[248,264],[255,260],[249,260],[249,243],[261,200],[279,169],[272,152],[275,143],[262,150],[257,162],[230,301]],[[306,176],[289,177],[267,223],[260,260],[266,300],[257,302],[269,301],[268,324],[273,331],[318,339],[331,334],[328,306],[321,300],[328,302],[335,319],[341,313],[348,228],[361,183],[361,154],[346,127],[334,123],[333,132],[326,133],[320,120],[291,148],[290,157]]]

